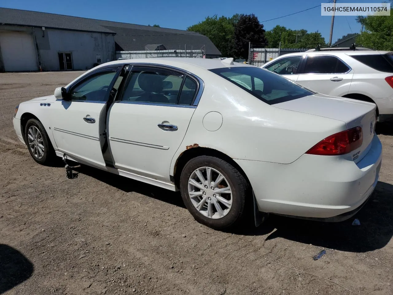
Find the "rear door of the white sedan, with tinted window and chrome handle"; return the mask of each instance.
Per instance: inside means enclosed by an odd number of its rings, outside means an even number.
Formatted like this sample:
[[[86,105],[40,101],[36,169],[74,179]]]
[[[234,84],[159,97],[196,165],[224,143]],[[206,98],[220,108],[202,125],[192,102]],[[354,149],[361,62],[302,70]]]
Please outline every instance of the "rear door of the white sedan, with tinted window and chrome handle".
[[[172,69],[133,67],[108,114],[108,139],[119,170],[170,183],[169,167],[196,106],[201,83]]]

